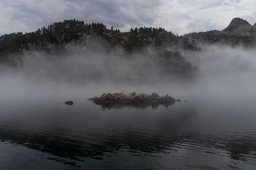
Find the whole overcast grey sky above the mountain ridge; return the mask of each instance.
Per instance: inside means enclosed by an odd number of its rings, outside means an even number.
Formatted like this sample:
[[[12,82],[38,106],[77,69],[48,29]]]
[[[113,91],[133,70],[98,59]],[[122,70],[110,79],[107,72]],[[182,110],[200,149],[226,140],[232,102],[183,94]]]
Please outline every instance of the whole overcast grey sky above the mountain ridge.
[[[0,0],[0,35],[76,19],[122,32],[162,27],[178,35],[222,30],[234,17],[254,25],[255,0]]]

